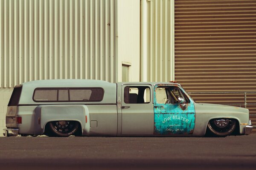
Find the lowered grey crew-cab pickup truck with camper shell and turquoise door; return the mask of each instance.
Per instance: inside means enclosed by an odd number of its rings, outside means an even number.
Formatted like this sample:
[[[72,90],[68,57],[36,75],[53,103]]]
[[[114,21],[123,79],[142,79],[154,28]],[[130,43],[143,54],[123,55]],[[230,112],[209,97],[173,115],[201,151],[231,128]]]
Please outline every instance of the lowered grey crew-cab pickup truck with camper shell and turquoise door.
[[[172,82],[38,80],[14,88],[5,136],[250,134],[249,111],[195,103]]]

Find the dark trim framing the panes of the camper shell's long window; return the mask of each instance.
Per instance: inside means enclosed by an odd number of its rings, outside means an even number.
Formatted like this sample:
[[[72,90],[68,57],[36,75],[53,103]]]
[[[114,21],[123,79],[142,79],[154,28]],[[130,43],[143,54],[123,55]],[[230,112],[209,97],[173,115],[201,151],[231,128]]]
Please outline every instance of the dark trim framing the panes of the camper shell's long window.
[[[86,89],[101,89],[102,90],[102,96],[100,98],[100,100],[72,100],[70,101],[70,89],[71,90],[76,90],[76,89],[82,89],[82,90],[86,90]],[[57,90],[57,100],[47,100],[47,101],[38,101],[38,100],[35,100],[34,97],[35,97],[35,91],[37,90]],[[58,91],[59,90],[67,90],[67,93],[68,93],[68,100],[62,100],[62,101],[58,101]],[[101,102],[103,100],[103,97],[104,97],[104,94],[105,94],[105,91],[103,88],[100,88],[100,87],[93,87],[93,88],[35,88],[34,92],[33,92],[33,96],[32,96],[32,100],[34,102],[37,102],[37,103],[41,103],[41,102]]]

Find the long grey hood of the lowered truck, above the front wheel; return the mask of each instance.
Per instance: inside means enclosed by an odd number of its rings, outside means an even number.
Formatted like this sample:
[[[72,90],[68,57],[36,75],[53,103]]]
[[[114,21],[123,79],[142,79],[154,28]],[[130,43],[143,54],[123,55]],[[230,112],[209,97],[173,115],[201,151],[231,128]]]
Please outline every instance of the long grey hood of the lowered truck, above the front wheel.
[[[208,103],[194,103],[195,113],[244,113],[249,114],[249,110],[235,106],[216,105]]]

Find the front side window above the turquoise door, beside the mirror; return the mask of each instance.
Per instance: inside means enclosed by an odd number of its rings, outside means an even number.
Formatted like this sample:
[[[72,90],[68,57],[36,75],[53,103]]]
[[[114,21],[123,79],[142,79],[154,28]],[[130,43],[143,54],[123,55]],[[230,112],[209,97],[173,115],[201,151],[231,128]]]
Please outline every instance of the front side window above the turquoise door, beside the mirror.
[[[189,103],[188,97],[176,86],[161,86],[156,89],[156,99],[159,104],[176,104],[178,99],[183,98]]]

